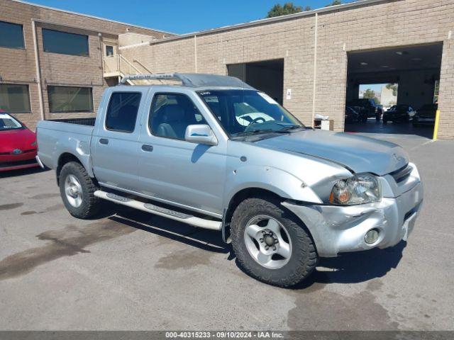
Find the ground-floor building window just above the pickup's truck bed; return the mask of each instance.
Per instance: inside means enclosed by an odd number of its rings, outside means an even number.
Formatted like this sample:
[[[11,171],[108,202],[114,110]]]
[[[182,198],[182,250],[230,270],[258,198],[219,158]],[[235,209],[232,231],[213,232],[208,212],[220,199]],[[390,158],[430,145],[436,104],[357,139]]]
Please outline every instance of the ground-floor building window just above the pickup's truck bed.
[[[91,87],[48,86],[49,111],[93,112]]]

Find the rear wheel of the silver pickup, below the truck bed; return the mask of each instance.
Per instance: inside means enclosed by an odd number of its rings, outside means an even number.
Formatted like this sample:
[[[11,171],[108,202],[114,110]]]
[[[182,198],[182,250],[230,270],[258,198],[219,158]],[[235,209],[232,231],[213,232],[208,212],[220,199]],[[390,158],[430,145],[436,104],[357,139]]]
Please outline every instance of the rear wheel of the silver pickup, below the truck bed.
[[[99,212],[97,186],[84,167],[77,162],[65,164],[60,172],[60,195],[70,214],[87,219]]]

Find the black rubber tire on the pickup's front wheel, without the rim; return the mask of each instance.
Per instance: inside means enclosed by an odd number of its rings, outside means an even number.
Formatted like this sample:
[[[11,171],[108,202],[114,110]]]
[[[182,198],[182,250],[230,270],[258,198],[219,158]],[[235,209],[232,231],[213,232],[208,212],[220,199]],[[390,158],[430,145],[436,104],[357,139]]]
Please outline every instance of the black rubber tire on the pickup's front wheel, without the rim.
[[[250,255],[245,244],[245,227],[258,215],[267,215],[277,220],[289,234],[292,254],[281,268],[266,268]],[[309,231],[291,212],[281,208],[272,198],[248,198],[238,205],[231,221],[233,251],[240,266],[253,278],[270,285],[289,288],[307,278],[319,260],[314,241]]]

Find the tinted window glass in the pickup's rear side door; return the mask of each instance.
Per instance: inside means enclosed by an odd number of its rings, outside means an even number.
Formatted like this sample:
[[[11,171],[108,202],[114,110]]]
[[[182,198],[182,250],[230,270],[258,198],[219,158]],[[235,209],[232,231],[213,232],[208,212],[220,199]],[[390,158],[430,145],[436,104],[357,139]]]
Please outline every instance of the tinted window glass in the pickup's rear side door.
[[[107,108],[107,130],[133,132],[141,96],[135,92],[114,92]]]

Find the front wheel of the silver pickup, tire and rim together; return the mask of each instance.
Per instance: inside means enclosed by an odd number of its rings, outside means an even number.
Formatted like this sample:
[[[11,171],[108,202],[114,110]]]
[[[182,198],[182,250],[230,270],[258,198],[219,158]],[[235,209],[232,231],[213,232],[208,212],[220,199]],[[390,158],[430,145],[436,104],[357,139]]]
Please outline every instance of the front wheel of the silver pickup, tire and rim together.
[[[271,198],[243,200],[233,212],[231,237],[245,272],[271,285],[297,285],[318,261],[309,231]]]

